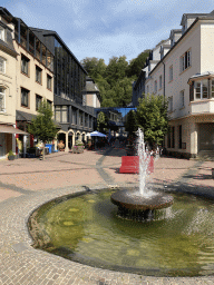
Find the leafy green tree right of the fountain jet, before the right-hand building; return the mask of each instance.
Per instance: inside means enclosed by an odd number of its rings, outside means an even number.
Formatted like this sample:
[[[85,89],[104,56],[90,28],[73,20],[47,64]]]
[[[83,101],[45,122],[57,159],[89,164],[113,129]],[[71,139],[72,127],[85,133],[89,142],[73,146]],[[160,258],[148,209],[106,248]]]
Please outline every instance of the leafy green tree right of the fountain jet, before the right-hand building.
[[[139,99],[137,121],[144,130],[145,140],[150,145],[160,145],[168,131],[167,108],[164,96],[147,95]]]

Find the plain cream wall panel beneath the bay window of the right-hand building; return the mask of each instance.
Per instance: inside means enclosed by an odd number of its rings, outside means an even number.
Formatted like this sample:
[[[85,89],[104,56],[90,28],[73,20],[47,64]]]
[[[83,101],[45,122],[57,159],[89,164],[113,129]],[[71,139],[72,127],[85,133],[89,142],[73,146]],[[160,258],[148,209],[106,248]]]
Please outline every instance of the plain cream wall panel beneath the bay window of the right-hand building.
[[[214,112],[214,99],[195,100],[191,102],[191,114],[212,114]]]

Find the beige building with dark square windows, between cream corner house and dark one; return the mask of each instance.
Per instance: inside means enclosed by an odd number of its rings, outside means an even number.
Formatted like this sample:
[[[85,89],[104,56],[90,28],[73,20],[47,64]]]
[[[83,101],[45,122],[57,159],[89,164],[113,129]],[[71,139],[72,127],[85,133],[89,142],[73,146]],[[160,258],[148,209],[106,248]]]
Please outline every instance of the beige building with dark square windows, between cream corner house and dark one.
[[[17,127],[28,131],[28,124],[30,124],[31,119],[37,115],[39,105],[43,99],[46,99],[51,109],[54,109],[54,56],[43,45],[41,46],[41,42],[22,21],[21,27],[26,35],[29,33],[29,39],[31,38],[33,42],[38,42],[35,50],[30,45],[30,40],[27,45],[25,35],[20,35],[20,43],[18,40],[14,40],[14,49],[18,53],[16,62]],[[14,29],[16,28],[17,24],[14,24]],[[29,48],[26,49],[27,46],[29,46]],[[49,58],[48,55],[50,55]],[[35,145],[32,136],[26,138],[27,140],[25,140],[23,136],[19,136],[19,140],[21,141],[19,150],[23,156],[27,148]]]

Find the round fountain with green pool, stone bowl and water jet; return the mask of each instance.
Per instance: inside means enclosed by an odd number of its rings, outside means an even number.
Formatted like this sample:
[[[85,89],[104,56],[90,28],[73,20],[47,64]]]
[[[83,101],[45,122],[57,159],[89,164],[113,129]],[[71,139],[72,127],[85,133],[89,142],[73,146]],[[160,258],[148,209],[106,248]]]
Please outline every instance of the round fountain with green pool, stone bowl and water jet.
[[[28,222],[33,246],[117,272],[213,275],[214,203],[184,193],[169,196],[152,190],[146,184],[148,156],[140,130],[137,147],[137,189],[94,189],[43,204]]]

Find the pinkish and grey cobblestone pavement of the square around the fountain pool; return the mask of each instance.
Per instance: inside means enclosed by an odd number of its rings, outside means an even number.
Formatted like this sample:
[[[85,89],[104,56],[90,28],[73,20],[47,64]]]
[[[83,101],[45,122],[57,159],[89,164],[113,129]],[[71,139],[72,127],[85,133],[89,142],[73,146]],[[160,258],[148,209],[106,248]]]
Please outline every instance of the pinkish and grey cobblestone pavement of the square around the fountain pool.
[[[123,148],[51,154],[45,161],[0,161],[0,285],[214,284],[214,276],[150,277],[81,265],[31,247],[29,215],[62,195],[108,186],[135,186],[137,175],[119,174]],[[150,176],[162,189],[214,198],[211,163],[159,158]]]

